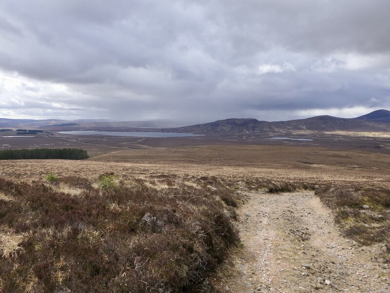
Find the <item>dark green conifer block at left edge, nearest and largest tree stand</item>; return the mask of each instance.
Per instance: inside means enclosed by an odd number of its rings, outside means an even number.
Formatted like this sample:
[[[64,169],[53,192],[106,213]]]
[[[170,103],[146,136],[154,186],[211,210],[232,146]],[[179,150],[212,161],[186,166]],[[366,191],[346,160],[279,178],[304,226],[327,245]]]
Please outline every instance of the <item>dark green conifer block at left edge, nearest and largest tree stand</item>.
[[[88,158],[88,153],[82,148],[33,148],[0,150],[0,160],[19,159],[66,159],[82,160]]]

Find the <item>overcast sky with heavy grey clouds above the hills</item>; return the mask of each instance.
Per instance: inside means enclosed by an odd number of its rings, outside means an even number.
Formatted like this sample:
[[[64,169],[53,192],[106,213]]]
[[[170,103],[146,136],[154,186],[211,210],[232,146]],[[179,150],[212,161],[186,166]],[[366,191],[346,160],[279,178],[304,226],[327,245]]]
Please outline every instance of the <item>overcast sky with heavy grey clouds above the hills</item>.
[[[389,0],[1,0],[0,118],[390,110]]]

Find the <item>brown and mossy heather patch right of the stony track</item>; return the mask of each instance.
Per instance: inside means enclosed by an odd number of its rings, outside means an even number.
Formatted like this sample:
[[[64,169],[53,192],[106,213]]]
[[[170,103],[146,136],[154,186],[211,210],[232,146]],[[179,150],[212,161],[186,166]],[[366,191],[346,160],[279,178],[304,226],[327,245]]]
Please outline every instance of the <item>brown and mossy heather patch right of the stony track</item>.
[[[383,243],[385,247],[390,247],[389,189],[323,187],[318,188],[315,194],[335,210],[335,222],[347,237],[363,245]],[[369,209],[364,209],[364,205]]]

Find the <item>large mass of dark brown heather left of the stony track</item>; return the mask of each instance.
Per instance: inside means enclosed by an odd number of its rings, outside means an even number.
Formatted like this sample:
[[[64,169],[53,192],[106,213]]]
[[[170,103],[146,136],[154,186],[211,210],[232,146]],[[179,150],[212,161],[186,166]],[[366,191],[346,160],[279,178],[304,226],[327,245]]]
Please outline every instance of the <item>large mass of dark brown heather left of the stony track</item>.
[[[178,193],[60,181],[84,191],[0,179],[14,199],[0,198],[0,227],[23,235],[9,255],[0,251],[0,292],[196,292],[238,241],[229,216],[237,195],[222,185]]]

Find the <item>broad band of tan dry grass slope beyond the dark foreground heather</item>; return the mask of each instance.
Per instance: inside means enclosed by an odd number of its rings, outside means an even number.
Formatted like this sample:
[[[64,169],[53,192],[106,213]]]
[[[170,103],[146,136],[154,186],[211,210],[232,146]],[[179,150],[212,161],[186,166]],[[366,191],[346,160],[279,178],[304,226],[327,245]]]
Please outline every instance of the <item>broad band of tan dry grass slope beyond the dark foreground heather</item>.
[[[98,174],[114,172],[122,178],[147,181],[159,179],[158,175],[175,174],[180,178],[215,176],[232,182],[267,179],[390,188],[389,166],[390,155],[375,152],[292,146],[194,146],[121,150],[93,161],[2,161],[0,176],[32,181],[53,172],[60,177],[88,178],[92,183],[98,181]]]

